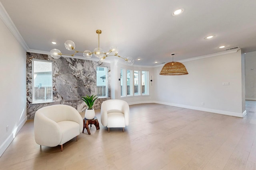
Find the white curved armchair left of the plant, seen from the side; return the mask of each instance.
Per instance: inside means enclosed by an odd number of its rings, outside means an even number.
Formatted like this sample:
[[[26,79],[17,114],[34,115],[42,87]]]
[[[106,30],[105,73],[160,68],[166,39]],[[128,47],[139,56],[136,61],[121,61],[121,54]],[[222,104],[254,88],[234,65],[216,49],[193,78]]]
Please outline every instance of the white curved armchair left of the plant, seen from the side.
[[[34,117],[34,135],[38,145],[56,147],[70,141],[83,130],[83,119],[71,106],[58,104],[38,109]]]

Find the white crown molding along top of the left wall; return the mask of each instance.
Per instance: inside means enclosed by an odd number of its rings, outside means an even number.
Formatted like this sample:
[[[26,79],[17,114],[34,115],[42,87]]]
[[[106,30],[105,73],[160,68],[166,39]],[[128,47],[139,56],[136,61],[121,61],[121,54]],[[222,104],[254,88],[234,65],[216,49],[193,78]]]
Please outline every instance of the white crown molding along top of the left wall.
[[[5,10],[4,6],[0,2],[0,18],[6,25],[6,27],[10,30],[12,35],[17,39],[17,41],[20,43],[20,45],[27,51],[28,50],[28,45],[24,41],[23,37],[20,35],[20,32],[14,25],[12,19],[8,15],[7,11]]]

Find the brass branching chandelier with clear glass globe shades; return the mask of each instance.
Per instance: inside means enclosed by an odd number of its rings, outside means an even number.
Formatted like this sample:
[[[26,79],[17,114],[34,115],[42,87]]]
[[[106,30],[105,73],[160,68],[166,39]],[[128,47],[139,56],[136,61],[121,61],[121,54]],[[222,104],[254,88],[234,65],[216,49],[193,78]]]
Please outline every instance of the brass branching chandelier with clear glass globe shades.
[[[100,61],[103,61],[104,59],[106,59],[106,57],[108,56],[116,56],[116,57],[119,57],[121,59],[124,59],[124,62],[127,64],[127,65],[132,65],[134,63],[134,59],[132,57],[121,57],[120,55],[118,55],[118,48],[117,47],[110,47],[110,50],[106,53],[104,53],[104,51],[100,48],[100,34],[101,34],[101,30],[98,29],[96,30],[96,33],[98,34],[98,47],[96,49],[94,49],[93,52],[89,51],[89,50],[85,50],[84,52],[82,51],[76,51],[75,50],[75,43],[71,40],[67,40],[65,41],[64,45],[66,47],[67,50],[69,51],[74,51],[74,53],[72,55],[69,55],[69,54],[62,54],[60,52],[60,50],[58,49],[52,49],[50,51],[50,56],[54,59],[59,59],[62,55],[67,55],[67,56],[72,56],[74,57],[74,55],[76,53],[83,53],[84,57],[87,58],[87,59],[90,59],[92,57],[92,54],[94,54],[95,57],[99,58]]]

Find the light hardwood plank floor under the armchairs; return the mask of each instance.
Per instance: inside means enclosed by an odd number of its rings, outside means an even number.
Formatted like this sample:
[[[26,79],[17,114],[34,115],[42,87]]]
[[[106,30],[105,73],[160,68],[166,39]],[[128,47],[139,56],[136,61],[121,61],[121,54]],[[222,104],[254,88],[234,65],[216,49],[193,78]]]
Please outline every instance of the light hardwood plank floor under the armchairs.
[[[255,170],[256,102],[238,118],[160,104],[130,106],[130,125],[81,133],[60,146],[34,141],[27,121],[0,157],[0,170]],[[81,113],[83,116],[83,113]],[[96,111],[100,122],[100,111]]]

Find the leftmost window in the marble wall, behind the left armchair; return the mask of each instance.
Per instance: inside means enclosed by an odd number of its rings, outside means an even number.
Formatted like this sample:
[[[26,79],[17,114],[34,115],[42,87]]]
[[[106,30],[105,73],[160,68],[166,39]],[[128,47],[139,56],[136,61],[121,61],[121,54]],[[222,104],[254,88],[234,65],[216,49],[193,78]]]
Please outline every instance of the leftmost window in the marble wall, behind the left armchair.
[[[52,102],[52,61],[32,60],[32,103]]]

